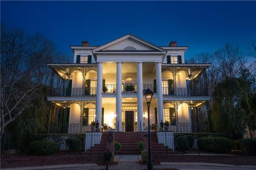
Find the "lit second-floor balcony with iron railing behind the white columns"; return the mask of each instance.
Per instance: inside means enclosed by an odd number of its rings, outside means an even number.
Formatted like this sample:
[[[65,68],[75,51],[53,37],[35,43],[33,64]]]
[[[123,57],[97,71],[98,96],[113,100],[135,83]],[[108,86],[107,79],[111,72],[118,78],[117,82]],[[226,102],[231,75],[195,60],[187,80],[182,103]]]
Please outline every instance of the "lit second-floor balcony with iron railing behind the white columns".
[[[97,90],[97,64],[49,64],[57,73],[53,79],[51,97],[95,96]],[[143,89],[155,93],[154,63],[143,64]],[[163,96],[208,96],[204,71],[209,64],[162,64]],[[136,63],[123,63],[122,94],[137,93]],[[103,64],[102,93],[116,93],[115,63]],[[106,95],[105,95],[106,96]]]

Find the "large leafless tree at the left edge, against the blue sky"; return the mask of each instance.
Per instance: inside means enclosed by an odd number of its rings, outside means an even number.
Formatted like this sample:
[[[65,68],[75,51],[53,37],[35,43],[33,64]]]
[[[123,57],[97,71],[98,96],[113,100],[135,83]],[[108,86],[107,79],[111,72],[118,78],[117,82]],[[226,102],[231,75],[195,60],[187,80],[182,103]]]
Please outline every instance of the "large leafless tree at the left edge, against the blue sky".
[[[36,98],[35,91],[50,81],[55,47],[42,35],[1,30],[1,135]]]

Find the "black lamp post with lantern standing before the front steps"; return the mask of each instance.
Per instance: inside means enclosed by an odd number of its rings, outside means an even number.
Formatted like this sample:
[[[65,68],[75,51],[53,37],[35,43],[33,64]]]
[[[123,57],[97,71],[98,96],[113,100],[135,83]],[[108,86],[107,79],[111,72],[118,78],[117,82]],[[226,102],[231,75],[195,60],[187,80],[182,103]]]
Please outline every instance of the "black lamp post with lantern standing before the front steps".
[[[150,138],[150,114],[149,114],[149,106],[151,103],[151,99],[154,95],[154,92],[150,89],[143,90],[146,101],[147,101],[147,106],[148,106],[148,169],[151,170],[153,169],[152,165],[152,160],[151,160],[151,138]]]

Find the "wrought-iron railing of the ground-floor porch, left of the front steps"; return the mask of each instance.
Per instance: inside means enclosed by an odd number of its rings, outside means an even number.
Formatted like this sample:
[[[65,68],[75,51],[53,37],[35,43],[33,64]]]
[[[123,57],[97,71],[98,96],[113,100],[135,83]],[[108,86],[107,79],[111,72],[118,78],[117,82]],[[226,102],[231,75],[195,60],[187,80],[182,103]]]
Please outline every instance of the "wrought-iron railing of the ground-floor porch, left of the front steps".
[[[49,133],[85,133],[90,131],[90,126],[83,126],[80,123],[51,124],[49,126]]]

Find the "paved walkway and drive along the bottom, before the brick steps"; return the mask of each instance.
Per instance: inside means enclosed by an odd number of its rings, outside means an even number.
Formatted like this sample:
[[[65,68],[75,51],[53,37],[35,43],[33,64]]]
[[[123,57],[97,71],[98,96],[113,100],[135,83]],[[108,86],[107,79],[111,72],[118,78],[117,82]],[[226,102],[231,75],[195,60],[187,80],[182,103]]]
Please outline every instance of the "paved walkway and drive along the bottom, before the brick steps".
[[[122,169],[122,170],[141,170],[146,169],[147,165],[141,165],[139,163],[139,155],[121,155],[116,156],[115,161],[118,162],[115,166],[109,166],[109,169]],[[106,166],[98,166],[97,164],[66,164],[66,165],[51,165],[51,166],[37,166],[37,167],[23,167],[23,168],[6,168],[6,170],[33,170],[33,169],[52,169],[52,170],[75,170],[75,169],[105,169]],[[161,165],[154,165],[153,168],[167,169],[176,168],[179,170],[256,170],[256,166],[240,166],[240,165],[226,165],[226,164],[214,164],[214,163],[170,163],[161,162]]]

